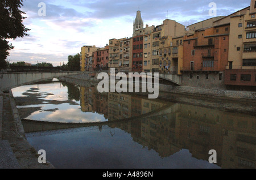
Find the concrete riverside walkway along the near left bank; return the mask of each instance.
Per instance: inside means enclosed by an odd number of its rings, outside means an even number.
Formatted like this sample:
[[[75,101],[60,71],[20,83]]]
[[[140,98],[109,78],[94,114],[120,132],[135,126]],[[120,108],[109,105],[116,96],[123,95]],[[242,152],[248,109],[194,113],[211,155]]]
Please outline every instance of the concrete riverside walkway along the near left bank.
[[[27,142],[13,93],[0,92],[0,169],[52,169]]]

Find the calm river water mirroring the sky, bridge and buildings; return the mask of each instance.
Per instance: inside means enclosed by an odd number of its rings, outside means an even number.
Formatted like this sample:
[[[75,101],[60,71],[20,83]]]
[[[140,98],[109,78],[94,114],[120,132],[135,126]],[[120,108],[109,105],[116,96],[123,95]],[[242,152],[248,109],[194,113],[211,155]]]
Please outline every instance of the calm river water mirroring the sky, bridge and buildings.
[[[12,91],[28,142],[56,168],[255,168],[254,115],[57,79]]]

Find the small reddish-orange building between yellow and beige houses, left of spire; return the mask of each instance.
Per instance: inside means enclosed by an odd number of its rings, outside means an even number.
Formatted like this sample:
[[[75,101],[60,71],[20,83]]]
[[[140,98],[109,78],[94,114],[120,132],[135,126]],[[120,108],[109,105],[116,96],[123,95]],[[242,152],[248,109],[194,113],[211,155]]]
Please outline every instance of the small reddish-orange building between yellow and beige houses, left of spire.
[[[93,52],[93,68],[94,70],[108,69],[109,62],[109,46],[105,48],[99,48],[96,52]]]

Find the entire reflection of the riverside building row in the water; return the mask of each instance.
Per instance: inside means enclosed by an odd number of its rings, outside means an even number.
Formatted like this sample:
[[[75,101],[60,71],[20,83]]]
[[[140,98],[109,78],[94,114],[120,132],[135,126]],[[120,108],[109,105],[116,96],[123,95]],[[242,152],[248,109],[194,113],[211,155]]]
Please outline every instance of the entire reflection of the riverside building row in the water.
[[[162,108],[166,105],[162,102],[118,93],[109,93],[107,100],[97,96],[93,87],[81,88],[82,97],[81,109],[106,113],[109,121],[141,117],[109,126],[129,132],[135,142],[154,149],[161,157],[188,149],[192,157],[208,161],[209,151],[214,149],[221,168],[255,168],[253,116],[185,104]]]

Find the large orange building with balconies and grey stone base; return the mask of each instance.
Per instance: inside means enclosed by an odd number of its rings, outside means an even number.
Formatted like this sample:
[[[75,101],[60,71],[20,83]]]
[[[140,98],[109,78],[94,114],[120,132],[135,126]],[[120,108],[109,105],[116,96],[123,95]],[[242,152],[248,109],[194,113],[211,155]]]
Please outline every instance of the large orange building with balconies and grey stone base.
[[[228,65],[230,24],[197,29],[184,36],[183,85],[225,88],[224,71]]]

